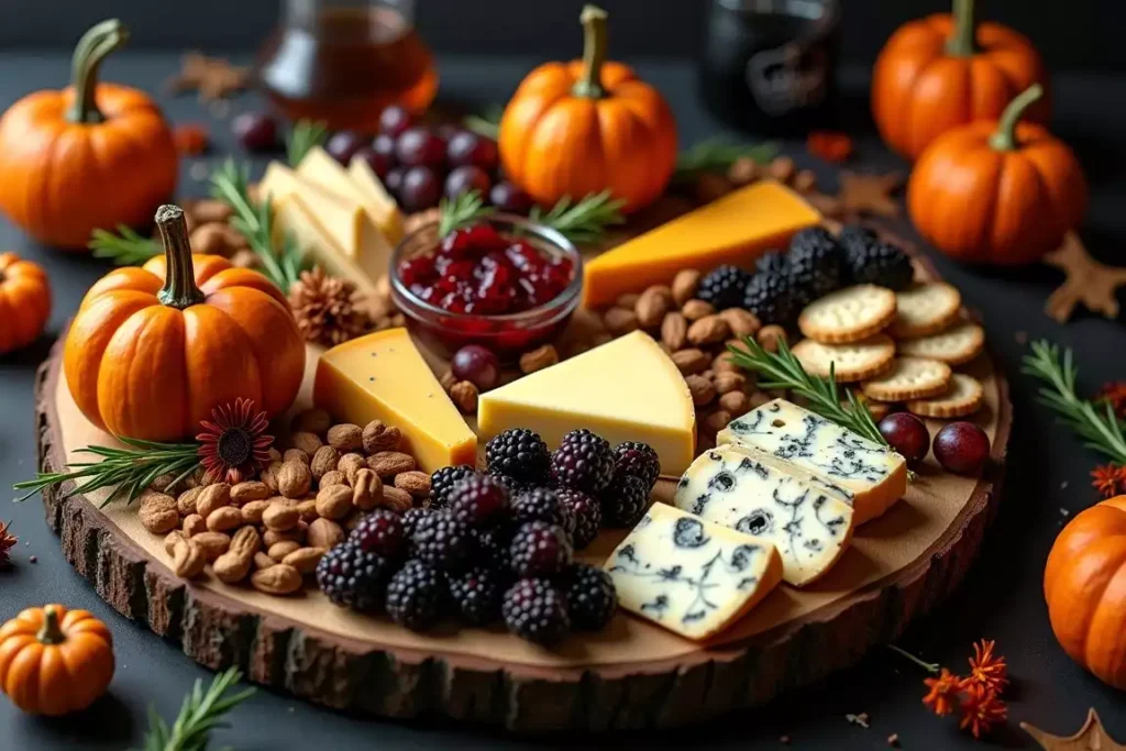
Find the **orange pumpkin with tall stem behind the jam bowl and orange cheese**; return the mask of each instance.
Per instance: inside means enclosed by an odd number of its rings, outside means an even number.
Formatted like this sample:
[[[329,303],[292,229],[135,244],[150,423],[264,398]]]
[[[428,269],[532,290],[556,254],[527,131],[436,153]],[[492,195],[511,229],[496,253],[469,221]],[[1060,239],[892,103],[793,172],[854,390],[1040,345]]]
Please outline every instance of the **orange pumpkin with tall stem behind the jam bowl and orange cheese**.
[[[582,10],[583,59],[531,71],[500,122],[501,162],[540,204],[609,189],[632,212],[663,191],[677,163],[677,126],[661,95],[631,68],[606,62],[606,12]]]

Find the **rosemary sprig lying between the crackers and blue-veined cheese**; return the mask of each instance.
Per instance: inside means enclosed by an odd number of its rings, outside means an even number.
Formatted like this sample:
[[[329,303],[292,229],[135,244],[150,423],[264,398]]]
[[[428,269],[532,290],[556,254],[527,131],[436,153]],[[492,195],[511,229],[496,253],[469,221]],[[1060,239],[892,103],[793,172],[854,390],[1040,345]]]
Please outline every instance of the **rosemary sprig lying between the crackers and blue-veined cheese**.
[[[805,372],[785,340],[778,341],[778,351],[768,352],[752,337],[744,337],[747,349],[729,345],[731,361],[741,368],[759,375],[759,388],[784,388],[793,391],[808,401],[811,410],[852,432],[864,436],[881,446],[887,446],[887,439],[879,432],[868,408],[861,404],[851,391],[844,390],[848,404],[842,405],[840,390],[833,367],[829,367],[829,377],[822,378]]]

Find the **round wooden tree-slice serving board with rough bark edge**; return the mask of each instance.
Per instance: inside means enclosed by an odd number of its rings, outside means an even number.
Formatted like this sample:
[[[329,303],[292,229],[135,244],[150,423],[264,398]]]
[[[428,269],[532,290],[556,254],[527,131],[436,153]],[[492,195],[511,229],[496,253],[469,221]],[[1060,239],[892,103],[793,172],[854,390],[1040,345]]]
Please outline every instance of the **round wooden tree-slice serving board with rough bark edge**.
[[[60,341],[36,381],[43,471],[61,470],[83,446],[114,442],[78,411],[61,359]],[[985,474],[959,477],[928,459],[906,497],[861,527],[825,578],[801,591],[779,587],[707,645],[626,614],[554,651],[502,628],[414,634],[336,608],[312,589],[275,598],[214,579],[184,582],[134,509],[99,508],[105,493],[64,498],[68,486],[46,492],[44,503],[66,558],[100,597],[212,669],[239,665],[271,689],[359,714],[520,732],[672,726],[761,704],[850,665],[958,585],[995,509],[1011,426],[1003,375],[988,357],[968,372],[985,385],[975,418],[993,441]],[[658,501],[672,489],[662,481]],[[604,533],[583,557],[600,564],[623,535]]]

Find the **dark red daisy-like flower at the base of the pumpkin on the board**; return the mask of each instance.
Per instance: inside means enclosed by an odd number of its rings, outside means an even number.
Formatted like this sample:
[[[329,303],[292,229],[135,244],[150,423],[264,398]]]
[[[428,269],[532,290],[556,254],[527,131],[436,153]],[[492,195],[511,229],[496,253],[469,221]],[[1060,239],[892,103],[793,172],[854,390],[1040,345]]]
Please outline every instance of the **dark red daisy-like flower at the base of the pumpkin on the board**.
[[[249,399],[239,397],[212,410],[212,419],[199,427],[203,432],[196,440],[207,482],[240,483],[270,461],[274,436],[266,432],[269,420],[266,412],[254,413],[254,402]]]

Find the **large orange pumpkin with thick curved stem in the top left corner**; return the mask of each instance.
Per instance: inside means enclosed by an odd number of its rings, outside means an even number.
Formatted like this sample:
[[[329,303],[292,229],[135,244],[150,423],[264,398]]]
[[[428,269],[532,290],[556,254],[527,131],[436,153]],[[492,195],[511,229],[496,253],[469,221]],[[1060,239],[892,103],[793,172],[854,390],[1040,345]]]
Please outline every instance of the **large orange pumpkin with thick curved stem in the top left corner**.
[[[143,91],[98,82],[128,34],[98,24],[74,48],[73,80],[0,118],[0,211],[39,242],[86,248],[90,232],[142,225],[176,188],[172,134]]]

